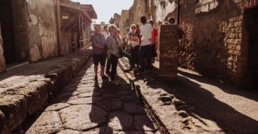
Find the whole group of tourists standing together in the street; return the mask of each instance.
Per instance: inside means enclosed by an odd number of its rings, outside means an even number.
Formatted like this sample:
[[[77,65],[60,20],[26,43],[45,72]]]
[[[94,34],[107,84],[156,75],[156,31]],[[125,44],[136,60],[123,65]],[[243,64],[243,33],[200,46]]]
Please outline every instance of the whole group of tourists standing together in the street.
[[[157,56],[158,30],[153,26],[154,22],[147,21],[145,16],[140,17],[140,22],[141,27],[139,24],[132,24],[129,33],[123,38],[116,25],[105,25],[103,33],[101,33],[100,25],[94,26],[95,32],[92,34],[91,41],[95,80],[98,80],[98,64],[100,63],[100,76],[108,79],[105,76],[106,73],[111,76],[111,83],[118,85],[116,71],[118,58],[122,57],[127,57],[130,69],[138,71],[139,74],[152,70],[155,56]]]

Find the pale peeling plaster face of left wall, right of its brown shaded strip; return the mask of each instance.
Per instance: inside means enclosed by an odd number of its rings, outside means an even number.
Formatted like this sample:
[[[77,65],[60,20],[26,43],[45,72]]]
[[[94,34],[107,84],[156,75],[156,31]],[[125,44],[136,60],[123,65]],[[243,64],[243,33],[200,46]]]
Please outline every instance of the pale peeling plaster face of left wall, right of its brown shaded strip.
[[[31,61],[58,56],[55,3],[52,0],[29,0],[30,21],[28,51]]]

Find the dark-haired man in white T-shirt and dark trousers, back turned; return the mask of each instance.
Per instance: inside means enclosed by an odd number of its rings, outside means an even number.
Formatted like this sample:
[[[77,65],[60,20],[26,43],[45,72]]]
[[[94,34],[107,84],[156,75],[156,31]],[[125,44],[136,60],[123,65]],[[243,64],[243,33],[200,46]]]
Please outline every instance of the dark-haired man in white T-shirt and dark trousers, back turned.
[[[142,41],[139,52],[140,71],[151,71],[151,32],[153,27],[147,24],[145,16],[140,17],[140,22],[142,23],[142,27],[140,27],[140,40]],[[144,67],[144,58],[147,58],[147,67]]]

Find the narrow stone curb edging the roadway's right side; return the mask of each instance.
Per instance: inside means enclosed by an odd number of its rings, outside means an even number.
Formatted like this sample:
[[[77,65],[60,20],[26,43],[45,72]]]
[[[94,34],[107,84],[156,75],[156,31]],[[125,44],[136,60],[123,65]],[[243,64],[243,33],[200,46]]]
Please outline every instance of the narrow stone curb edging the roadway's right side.
[[[164,133],[164,134],[169,134],[169,130],[166,128],[166,126],[163,124],[163,122],[160,120],[159,116],[155,113],[155,110],[153,110],[151,108],[151,105],[149,104],[149,102],[147,102],[147,100],[144,98],[144,96],[142,95],[140,88],[138,85],[136,85],[133,80],[131,80],[131,78],[129,78],[129,76],[127,75],[127,73],[125,72],[125,65],[124,63],[122,63],[121,60],[118,60],[118,65],[119,67],[122,69],[123,73],[125,74],[125,76],[128,78],[131,88],[133,89],[133,91],[136,93],[136,96],[143,102],[144,104],[144,108],[147,109],[147,113],[151,116],[151,119],[153,120],[153,122],[155,123],[156,126],[158,126],[158,129],[160,131],[160,133]]]

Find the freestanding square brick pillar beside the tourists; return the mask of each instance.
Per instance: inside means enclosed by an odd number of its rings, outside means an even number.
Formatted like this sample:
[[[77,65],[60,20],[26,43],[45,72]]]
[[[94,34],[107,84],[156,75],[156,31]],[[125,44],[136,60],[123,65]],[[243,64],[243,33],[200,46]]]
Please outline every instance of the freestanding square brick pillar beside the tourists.
[[[177,80],[178,44],[178,25],[161,25],[159,76],[165,81]]]

